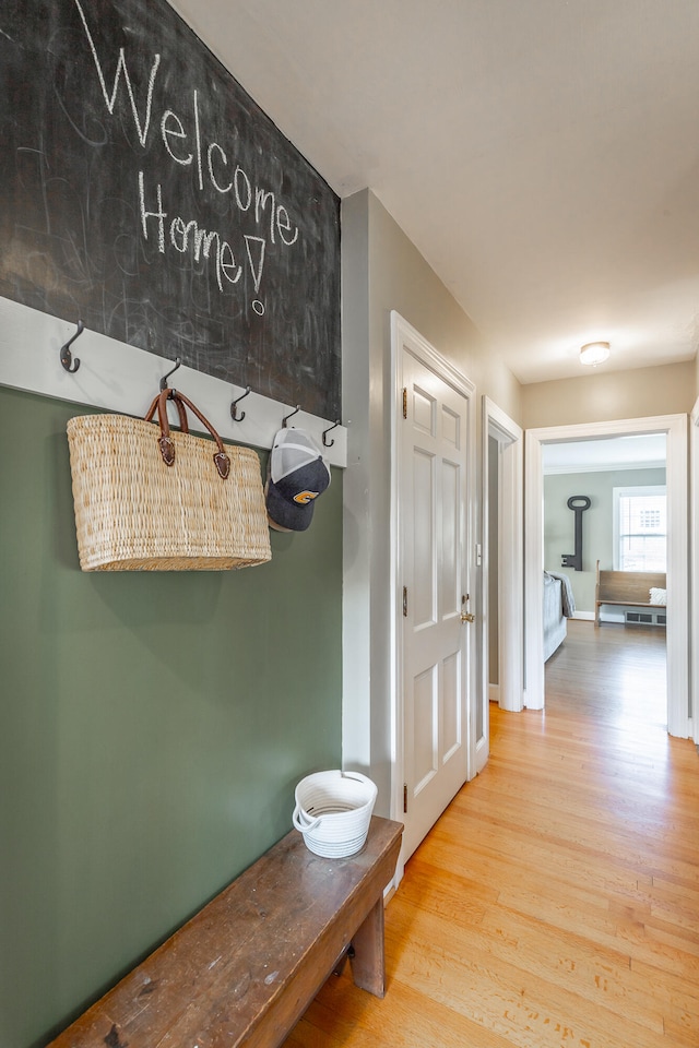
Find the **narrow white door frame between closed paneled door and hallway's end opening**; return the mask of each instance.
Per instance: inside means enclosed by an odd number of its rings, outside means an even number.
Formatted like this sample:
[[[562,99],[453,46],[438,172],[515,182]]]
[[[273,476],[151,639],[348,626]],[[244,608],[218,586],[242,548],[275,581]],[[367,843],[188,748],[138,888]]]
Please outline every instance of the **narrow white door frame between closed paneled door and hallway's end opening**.
[[[498,442],[498,549],[489,548],[490,509],[488,483],[488,439]],[[481,622],[481,670],[484,717],[489,702],[488,579],[493,556],[498,559],[498,705],[519,713],[524,706],[524,495],[523,431],[488,396],[483,397],[483,594]],[[507,595],[507,600],[503,596]],[[484,720],[485,724],[485,720]],[[479,771],[481,754],[476,765]],[[486,746],[489,741],[486,740]],[[487,757],[487,754],[486,754]]]

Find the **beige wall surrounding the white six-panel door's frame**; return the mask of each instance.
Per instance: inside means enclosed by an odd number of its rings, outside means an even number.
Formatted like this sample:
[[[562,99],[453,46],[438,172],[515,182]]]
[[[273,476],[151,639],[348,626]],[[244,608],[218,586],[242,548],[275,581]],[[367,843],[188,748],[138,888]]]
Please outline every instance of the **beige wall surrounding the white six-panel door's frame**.
[[[400,313],[476,385],[481,522],[481,408],[487,394],[518,424],[520,385],[483,340],[415,246],[368,190],[343,201],[344,474],[343,758],[391,787],[391,310]],[[479,534],[474,541],[481,540]],[[476,592],[479,584],[476,580]],[[478,605],[476,605],[478,606]]]

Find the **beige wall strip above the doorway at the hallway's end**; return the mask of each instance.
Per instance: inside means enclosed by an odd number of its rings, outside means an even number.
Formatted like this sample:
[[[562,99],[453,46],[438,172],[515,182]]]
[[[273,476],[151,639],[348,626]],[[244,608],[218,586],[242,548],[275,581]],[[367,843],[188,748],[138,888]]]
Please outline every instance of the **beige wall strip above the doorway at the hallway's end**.
[[[695,362],[688,361],[523,385],[523,426],[533,429],[689,414],[696,381]]]

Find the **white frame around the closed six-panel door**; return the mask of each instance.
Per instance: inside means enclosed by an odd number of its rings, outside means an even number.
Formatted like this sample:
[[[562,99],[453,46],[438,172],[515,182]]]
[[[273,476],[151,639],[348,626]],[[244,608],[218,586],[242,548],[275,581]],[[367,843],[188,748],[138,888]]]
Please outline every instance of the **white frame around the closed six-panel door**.
[[[391,536],[391,565],[390,565],[390,587],[391,587],[391,818],[401,822],[403,819],[403,783],[405,781],[405,753],[404,753],[404,707],[403,707],[403,640],[401,619],[403,614],[402,586],[399,579],[400,568],[400,535],[401,535],[401,491],[399,485],[399,424],[402,421],[402,368],[401,354],[403,346],[410,346],[411,353],[430,371],[434,371],[443,382],[451,385],[460,393],[466,403],[467,408],[467,431],[466,439],[469,450],[466,454],[466,483],[465,483],[465,516],[466,541],[464,543],[464,567],[466,570],[466,581],[471,587],[475,582],[475,572],[473,564],[473,550],[475,535],[475,512],[474,512],[474,466],[475,466],[475,392],[476,388],[464,374],[461,373],[449,360],[441,356],[437,349],[420,333],[413,327],[400,313],[391,310],[391,385],[393,396],[391,397],[391,504],[390,504],[390,536]],[[400,407],[399,407],[400,405]],[[479,603],[476,600],[472,605],[472,610],[479,614]],[[472,771],[475,764],[474,729],[475,729],[475,662],[476,662],[476,631],[465,630],[466,636],[466,681],[467,704],[465,717],[466,733],[466,782],[473,777]],[[396,876],[394,883],[398,885],[405,865],[403,855],[399,857]]]

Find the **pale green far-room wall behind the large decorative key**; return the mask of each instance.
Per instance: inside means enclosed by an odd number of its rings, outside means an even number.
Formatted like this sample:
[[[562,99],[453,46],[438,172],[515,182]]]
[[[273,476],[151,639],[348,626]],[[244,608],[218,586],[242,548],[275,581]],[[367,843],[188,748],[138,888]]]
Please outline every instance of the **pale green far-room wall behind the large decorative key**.
[[[609,469],[601,473],[554,474],[544,477],[544,568],[568,575],[576,610],[594,612],[595,565],[613,564],[614,488],[665,484],[665,469]],[[573,495],[587,495],[582,514],[582,571],[561,568],[560,558],[576,550],[576,517],[568,509]]]

